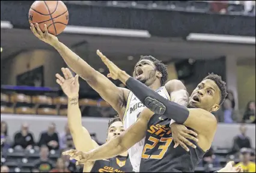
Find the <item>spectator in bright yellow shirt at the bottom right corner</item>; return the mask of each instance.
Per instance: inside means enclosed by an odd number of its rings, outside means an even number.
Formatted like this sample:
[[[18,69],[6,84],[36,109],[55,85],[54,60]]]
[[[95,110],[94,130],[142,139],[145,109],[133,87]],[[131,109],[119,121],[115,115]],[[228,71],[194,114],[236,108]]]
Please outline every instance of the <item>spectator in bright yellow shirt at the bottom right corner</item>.
[[[241,166],[243,172],[255,172],[255,163],[250,161],[251,152],[248,148],[240,150],[240,162],[236,166]]]

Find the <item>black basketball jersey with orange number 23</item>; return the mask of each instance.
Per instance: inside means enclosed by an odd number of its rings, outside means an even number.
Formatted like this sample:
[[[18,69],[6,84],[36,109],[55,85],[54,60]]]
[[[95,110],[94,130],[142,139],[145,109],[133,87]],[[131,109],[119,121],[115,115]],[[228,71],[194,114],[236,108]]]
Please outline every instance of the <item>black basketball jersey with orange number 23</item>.
[[[194,141],[197,148],[189,147],[189,152],[180,145],[174,148],[170,122],[157,114],[150,118],[139,172],[194,172],[203,158],[205,152]]]

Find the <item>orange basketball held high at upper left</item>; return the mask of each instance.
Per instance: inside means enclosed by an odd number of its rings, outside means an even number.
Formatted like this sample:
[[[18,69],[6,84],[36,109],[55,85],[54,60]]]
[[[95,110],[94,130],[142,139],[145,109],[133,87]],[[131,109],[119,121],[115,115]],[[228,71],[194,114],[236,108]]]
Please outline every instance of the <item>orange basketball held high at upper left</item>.
[[[69,11],[62,1],[35,1],[29,9],[28,20],[38,23],[43,32],[46,24],[50,34],[58,35],[69,22]]]

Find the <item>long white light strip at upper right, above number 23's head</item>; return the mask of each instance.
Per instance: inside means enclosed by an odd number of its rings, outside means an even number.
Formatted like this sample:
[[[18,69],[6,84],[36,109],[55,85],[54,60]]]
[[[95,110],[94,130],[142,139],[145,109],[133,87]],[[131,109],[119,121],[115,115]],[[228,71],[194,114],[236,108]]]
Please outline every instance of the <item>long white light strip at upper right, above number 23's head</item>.
[[[189,41],[213,41],[221,43],[255,44],[255,37],[219,34],[197,34],[190,33],[186,37]]]

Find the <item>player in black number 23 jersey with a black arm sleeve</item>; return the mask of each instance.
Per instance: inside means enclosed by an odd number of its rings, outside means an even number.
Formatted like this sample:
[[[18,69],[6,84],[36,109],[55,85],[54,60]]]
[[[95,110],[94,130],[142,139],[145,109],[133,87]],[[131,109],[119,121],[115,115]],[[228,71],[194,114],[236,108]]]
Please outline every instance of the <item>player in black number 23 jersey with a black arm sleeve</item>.
[[[145,108],[136,123],[105,145],[88,153],[70,150],[64,154],[69,154],[80,163],[106,159],[127,150],[145,138],[139,172],[194,172],[204,153],[212,145],[215,136],[217,121],[210,112],[217,111],[227,96],[225,82],[221,77],[216,74],[206,76],[191,94],[187,109],[159,97],[155,91],[120,70],[102,53],[98,52],[98,55],[109,68],[108,76],[126,84],[149,109]],[[172,149],[174,144],[171,129],[168,127],[171,120],[184,124],[198,133],[200,140],[195,144],[197,148],[190,147],[189,152],[180,147]],[[237,168],[236,171],[242,169]]]

